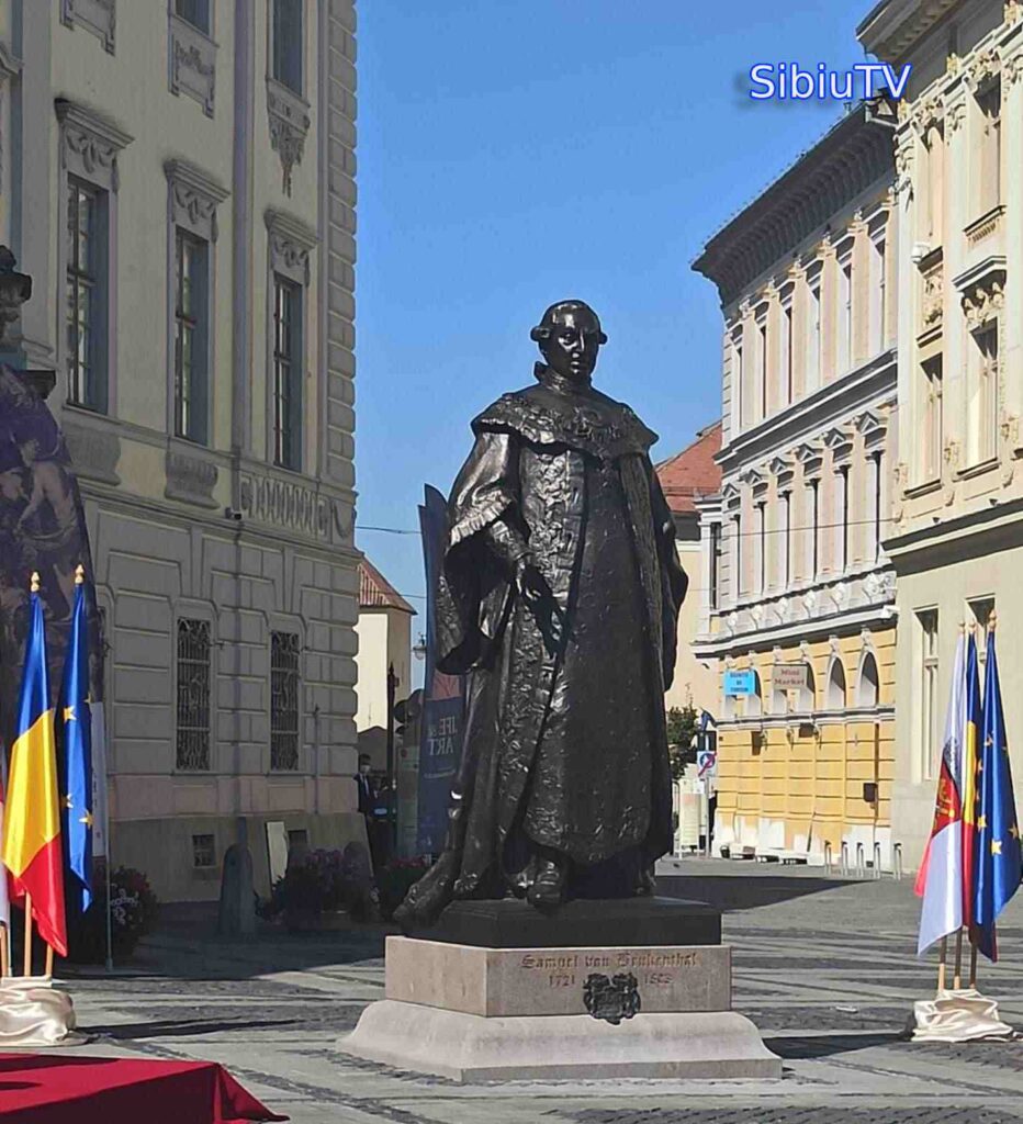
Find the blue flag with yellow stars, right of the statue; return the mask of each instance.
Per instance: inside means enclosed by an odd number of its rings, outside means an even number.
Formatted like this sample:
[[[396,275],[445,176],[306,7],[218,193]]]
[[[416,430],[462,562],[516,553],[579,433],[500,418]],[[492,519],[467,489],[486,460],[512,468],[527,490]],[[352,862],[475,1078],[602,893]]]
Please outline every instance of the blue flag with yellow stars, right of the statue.
[[[986,662],[977,850],[974,855],[974,925],[977,946],[989,960],[997,960],[995,919],[1020,886],[1023,853],[1020,849],[1013,778],[1008,765],[1008,741],[1002,713],[994,629],[988,633]]]

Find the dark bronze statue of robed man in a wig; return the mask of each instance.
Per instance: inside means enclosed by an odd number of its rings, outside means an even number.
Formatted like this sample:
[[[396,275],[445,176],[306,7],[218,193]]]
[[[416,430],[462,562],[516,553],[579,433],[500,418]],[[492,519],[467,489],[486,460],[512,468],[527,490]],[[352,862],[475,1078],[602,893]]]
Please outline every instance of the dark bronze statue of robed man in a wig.
[[[607,336],[578,300],[532,338],[537,384],[472,423],[449,501],[437,665],[469,673],[445,850],[396,914],[458,898],[627,897],[671,849],[664,690],[687,578],[657,441],[595,390]]]

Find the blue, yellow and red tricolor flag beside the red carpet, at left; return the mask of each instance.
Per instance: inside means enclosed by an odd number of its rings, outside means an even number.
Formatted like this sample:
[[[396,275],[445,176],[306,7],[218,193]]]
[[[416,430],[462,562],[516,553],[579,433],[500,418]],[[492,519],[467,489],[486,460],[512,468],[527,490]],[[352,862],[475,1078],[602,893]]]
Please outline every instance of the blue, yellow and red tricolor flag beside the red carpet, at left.
[[[37,589],[38,575],[33,574],[28,642],[3,805],[0,860],[11,872],[11,887],[17,897],[31,897],[31,915],[39,935],[64,957],[67,935],[57,759],[46,669],[46,632]]]

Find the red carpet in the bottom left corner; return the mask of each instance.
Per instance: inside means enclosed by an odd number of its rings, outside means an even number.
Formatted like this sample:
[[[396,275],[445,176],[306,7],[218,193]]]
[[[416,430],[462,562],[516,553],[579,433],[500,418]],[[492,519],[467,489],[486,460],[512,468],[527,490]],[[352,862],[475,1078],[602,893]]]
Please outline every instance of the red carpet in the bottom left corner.
[[[0,1120],[17,1124],[286,1121],[208,1061],[0,1054]]]

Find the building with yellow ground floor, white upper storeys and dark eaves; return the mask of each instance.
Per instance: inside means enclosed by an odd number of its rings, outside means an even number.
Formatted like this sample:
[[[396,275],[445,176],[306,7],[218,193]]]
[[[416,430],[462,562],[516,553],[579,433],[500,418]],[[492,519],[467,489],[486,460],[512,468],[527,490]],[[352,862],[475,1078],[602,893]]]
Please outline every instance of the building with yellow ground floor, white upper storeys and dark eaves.
[[[894,127],[885,102],[851,110],[694,263],[724,314],[695,651],[719,671],[714,846],[733,854],[890,861]]]

